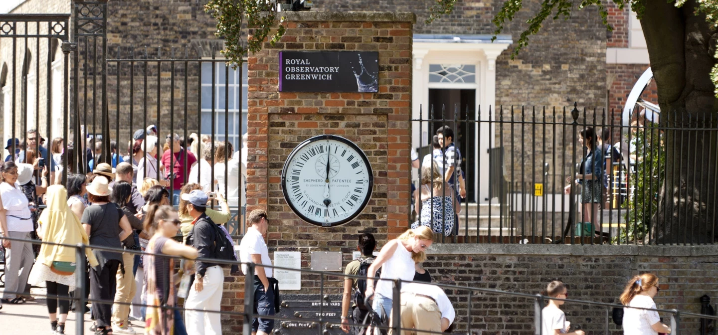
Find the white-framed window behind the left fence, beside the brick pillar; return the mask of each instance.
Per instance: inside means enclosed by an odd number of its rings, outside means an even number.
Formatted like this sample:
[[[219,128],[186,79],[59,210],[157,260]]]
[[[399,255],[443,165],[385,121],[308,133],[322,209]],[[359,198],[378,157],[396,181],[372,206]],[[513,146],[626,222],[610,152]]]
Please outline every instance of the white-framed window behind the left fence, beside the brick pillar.
[[[227,75],[227,71],[229,75]],[[212,71],[215,71],[215,82],[212,82]],[[202,62],[202,135],[212,136],[212,113],[215,116],[215,140],[230,141],[235,151],[241,148],[242,134],[247,132],[247,64],[242,65],[242,80],[239,71],[226,67],[223,62]],[[240,99],[241,89],[241,99]],[[215,103],[212,104],[214,95]],[[240,101],[241,100],[241,101]],[[226,103],[226,104],[225,104]],[[225,122],[225,111],[227,121]],[[241,132],[240,132],[241,122]]]

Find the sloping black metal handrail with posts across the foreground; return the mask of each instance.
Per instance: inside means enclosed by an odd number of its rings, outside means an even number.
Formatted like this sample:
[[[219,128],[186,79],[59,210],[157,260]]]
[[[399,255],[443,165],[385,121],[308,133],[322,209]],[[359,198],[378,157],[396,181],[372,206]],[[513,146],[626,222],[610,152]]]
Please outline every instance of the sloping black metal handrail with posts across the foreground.
[[[0,237],[0,241],[2,240],[9,240],[11,242],[29,242],[35,245],[62,245],[64,247],[70,247],[75,249],[75,255],[76,255],[76,263],[77,268],[75,270],[75,278],[77,280],[76,287],[78,289],[85,288],[89,285],[87,283],[87,279],[85,278],[85,272],[88,271],[88,265],[87,265],[87,259],[85,256],[85,250],[88,248],[90,250],[106,250],[106,251],[113,251],[117,253],[131,253],[135,255],[154,255],[155,257],[167,257],[167,258],[175,258],[175,259],[181,259],[173,256],[163,255],[163,254],[154,254],[154,253],[146,253],[136,250],[126,250],[126,249],[118,249],[113,247],[105,247],[101,245],[63,245],[53,242],[42,242],[39,240],[22,240],[22,239],[16,239],[11,237]],[[176,306],[152,306],[148,305],[146,303],[139,303],[139,304],[133,304],[134,308],[139,307],[161,307],[166,310],[180,310],[180,311],[197,311],[200,313],[221,313],[225,316],[233,316],[233,317],[241,317],[243,320],[243,334],[249,335],[251,334],[251,321],[254,317],[258,316],[253,311],[253,292],[254,292],[254,273],[256,270],[256,265],[254,263],[240,263],[236,261],[227,261],[227,260],[217,260],[217,259],[197,259],[200,261],[205,261],[208,263],[217,263],[220,265],[247,265],[247,275],[243,275],[244,278],[244,295],[243,295],[243,311],[226,311],[226,310],[220,310],[220,311],[205,311],[205,310],[198,310],[194,308],[185,308],[185,306],[182,306],[182,303],[177,303]],[[45,266],[37,264],[35,266]],[[275,321],[280,321],[279,323],[276,323],[274,326],[275,334],[297,334],[297,325],[301,325],[303,328],[307,330],[307,332],[302,332],[302,334],[313,334],[316,332],[316,334],[319,335],[327,335],[327,334],[342,334],[340,329],[341,321],[336,316],[336,313],[330,313],[331,311],[337,311],[337,308],[332,306],[337,306],[336,304],[332,305],[330,301],[330,294],[331,293],[340,293],[337,292],[337,288],[335,286],[330,286],[330,283],[332,281],[343,281],[345,278],[361,278],[356,275],[344,275],[342,273],[330,273],[325,271],[317,271],[317,270],[307,270],[307,269],[297,269],[297,268],[283,268],[283,267],[277,267],[277,266],[266,266],[263,265],[266,268],[272,268],[273,270],[289,270],[289,271],[297,271],[299,273],[304,273],[307,275],[312,275],[314,277],[317,277],[318,280],[320,280],[320,287],[317,292],[314,292],[316,294],[310,294],[310,296],[313,296],[312,299],[312,305],[316,305],[319,309],[319,312],[316,314],[316,317],[312,317],[311,315],[304,315],[302,313],[295,312],[294,314],[288,315],[287,313],[278,313],[274,316],[261,316],[265,319],[273,319]],[[226,276],[225,271],[225,276]],[[236,276],[236,278],[241,280],[242,275]],[[381,278],[376,278],[376,280],[383,280]],[[226,281],[226,280],[225,280]],[[230,282],[235,282],[237,280],[230,280]],[[401,318],[401,286],[404,283],[411,283],[409,281],[404,280],[391,280],[393,281],[393,301],[392,301],[392,310],[391,310],[391,319],[397,320]],[[325,285],[326,283],[326,285]],[[530,293],[518,293],[518,292],[508,292],[508,291],[500,291],[496,289],[490,289],[490,288],[476,288],[476,287],[467,287],[467,286],[457,286],[457,285],[447,285],[442,283],[433,283],[436,286],[439,286],[440,288],[444,289],[445,292],[449,294],[449,300],[452,301],[452,304],[454,305],[454,309],[457,310],[456,313],[456,319],[454,320],[454,327],[453,333],[454,334],[475,334],[476,331],[479,331],[480,329],[485,329],[485,326],[487,324],[490,324],[494,321],[488,321],[488,319],[483,319],[487,317],[488,315],[495,315],[495,316],[504,316],[504,315],[517,315],[516,314],[516,308],[517,306],[524,306],[526,309],[524,311],[521,311],[522,317],[512,317],[512,320],[518,324],[522,324],[523,326],[520,326],[520,328],[516,329],[516,331],[519,334],[537,334],[542,335],[541,331],[541,313],[542,308],[546,305],[546,303],[549,301],[549,299],[554,299],[557,301],[565,301],[567,303],[570,303],[572,305],[580,306],[580,313],[572,313],[570,316],[570,319],[573,320],[572,322],[572,330],[575,329],[584,329],[585,331],[592,331],[592,334],[612,334],[612,331],[617,331],[616,326],[612,326],[612,310],[614,308],[623,308],[621,305],[616,305],[612,303],[603,303],[603,302],[595,302],[595,301],[582,301],[579,299],[561,299],[561,298],[550,298],[548,296],[541,296],[539,294],[530,294]],[[280,283],[280,290],[281,290],[281,283]],[[9,291],[6,291],[9,292]],[[9,293],[15,293],[15,294],[23,294],[22,292],[9,292]],[[67,296],[54,296],[54,295],[41,295],[41,294],[34,294],[34,296],[42,297],[42,298],[54,298],[54,299],[64,299],[64,300],[70,300],[75,303],[75,306],[85,306],[86,303],[107,303],[107,304],[113,304],[116,303],[114,301],[103,301],[101,299],[96,298],[87,298],[83,296],[83,294],[75,294],[71,297]],[[508,298],[513,303],[506,304],[505,306],[502,304],[497,304],[495,308],[493,309],[492,314],[487,314],[485,310],[482,309],[474,309],[472,306],[475,304],[480,304],[480,301],[499,301],[500,298]],[[231,301],[232,299],[230,299]],[[129,304],[129,303],[125,303]],[[283,301],[281,303],[282,308],[289,308],[290,305],[294,304],[293,302]],[[462,308],[459,308],[459,306],[462,306]],[[505,309],[508,308],[508,309]],[[331,311],[330,311],[331,309]],[[700,321],[701,324],[710,324],[714,323],[716,320],[718,320],[718,316],[710,316],[710,315],[704,315],[704,314],[696,314],[696,313],[688,313],[683,311],[677,311],[675,309],[673,310],[664,310],[664,309],[652,309],[652,308],[638,308],[638,309],[644,309],[646,311],[657,311],[658,313],[668,314],[670,316],[670,327],[671,327],[671,334],[681,334],[681,331],[684,330],[685,326],[681,326],[681,320],[689,321],[689,322],[697,322]],[[84,316],[84,308],[75,308],[75,334],[85,334],[85,329],[87,329],[87,325],[85,324],[85,316]],[[505,314],[506,313],[506,314]],[[598,317],[600,315],[600,317]],[[477,319],[483,319],[483,321],[477,321]],[[515,320],[514,320],[515,319]],[[602,319],[600,322],[598,319]],[[225,319],[226,320],[226,319]],[[503,321],[498,321],[503,322]],[[380,326],[377,326],[378,329],[385,329],[393,331],[393,334],[398,334],[398,331],[401,331],[401,324],[400,323],[393,323],[393,324],[380,324]],[[421,329],[412,329],[415,331],[423,331]],[[424,331],[426,334],[442,334],[435,331]]]

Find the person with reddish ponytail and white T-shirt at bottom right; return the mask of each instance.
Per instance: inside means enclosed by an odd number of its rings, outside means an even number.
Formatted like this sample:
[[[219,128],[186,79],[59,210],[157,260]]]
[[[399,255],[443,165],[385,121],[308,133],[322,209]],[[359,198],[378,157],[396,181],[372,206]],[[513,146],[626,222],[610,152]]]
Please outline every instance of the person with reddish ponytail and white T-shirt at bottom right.
[[[657,311],[648,311],[638,308],[656,309],[653,297],[661,288],[658,287],[658,277],[653,273],[635,275],[628,280],[628,284],[621,294],[623,308],[623,334],[630,335],[658,335],[671,334],[671,328],[661,323]]]

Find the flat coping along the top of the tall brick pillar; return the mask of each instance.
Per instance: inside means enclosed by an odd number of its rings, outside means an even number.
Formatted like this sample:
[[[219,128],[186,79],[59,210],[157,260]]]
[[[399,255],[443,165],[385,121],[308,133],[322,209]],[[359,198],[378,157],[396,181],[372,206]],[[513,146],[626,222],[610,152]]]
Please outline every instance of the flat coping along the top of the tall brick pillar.
[[[289,22],[411,22],[416,14],[408,11],[282,11]]]

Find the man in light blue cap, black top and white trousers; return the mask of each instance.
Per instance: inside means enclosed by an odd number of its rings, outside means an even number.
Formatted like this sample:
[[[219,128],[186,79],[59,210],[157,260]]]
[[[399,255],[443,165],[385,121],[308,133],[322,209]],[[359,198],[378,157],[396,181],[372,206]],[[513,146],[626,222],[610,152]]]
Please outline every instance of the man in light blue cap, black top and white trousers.
[[[205,214],[208,197],[202,191],[195,190],[182,194],[182,200],[189,202],[187,212],[195,218],[192,231],[187,236],[188,244],[197,249],[199,258],[215,258],[215,222]],[[195,283],[185,302],[185,321],[187,334],[222,334],[220,322],[220,301],[224,272],[216,263],[195,262]],[[191,311],[192,309],[203,310]]]

